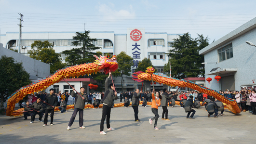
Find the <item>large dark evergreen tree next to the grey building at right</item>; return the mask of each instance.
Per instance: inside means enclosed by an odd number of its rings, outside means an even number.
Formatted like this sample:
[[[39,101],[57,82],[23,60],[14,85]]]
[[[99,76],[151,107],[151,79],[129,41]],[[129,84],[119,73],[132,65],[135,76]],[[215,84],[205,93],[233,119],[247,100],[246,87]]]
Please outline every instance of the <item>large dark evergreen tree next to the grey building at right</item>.
[[[192,39],[189,33],[174,39],[174,49],[169,50],[167,55],[171,58],[172,77],[184,79],[188,77],[200,77],[203,75],[203,57],[199,51],[208,45],[208,38],[198,35],[199,38]],[[164,72],[169,73],[168,64],[164,65]]]

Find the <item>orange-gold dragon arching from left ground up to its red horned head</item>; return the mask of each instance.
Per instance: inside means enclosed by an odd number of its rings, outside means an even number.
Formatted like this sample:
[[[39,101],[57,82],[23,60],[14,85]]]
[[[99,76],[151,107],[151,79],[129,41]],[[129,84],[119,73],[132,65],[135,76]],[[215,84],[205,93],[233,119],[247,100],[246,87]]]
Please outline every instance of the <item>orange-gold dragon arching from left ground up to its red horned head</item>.
[[[18,115],[18,113],[13,113],[15,104],[18,103],[20,100],[23,100],[23,98],[27,94],[45,90],[49,86],[53,85],[54,83],[58,83],[64,78],[75,78],[79,77],[80,75],[90,75],[97,72],[105,72],[106,74],[108,74],[109,71],[113,72],[118,68],[118,63],[116,61],[115,55],[113,55],[111,59],[108,59],[107,56],[97,57],[94,55],[94,57],[96,58],[94,63],[68,66],[66,68],[56,71],[53,75],[49,77],[31,83],[30,85],[22,87],[14,92],[11,96],[8,97],[6,116]]]

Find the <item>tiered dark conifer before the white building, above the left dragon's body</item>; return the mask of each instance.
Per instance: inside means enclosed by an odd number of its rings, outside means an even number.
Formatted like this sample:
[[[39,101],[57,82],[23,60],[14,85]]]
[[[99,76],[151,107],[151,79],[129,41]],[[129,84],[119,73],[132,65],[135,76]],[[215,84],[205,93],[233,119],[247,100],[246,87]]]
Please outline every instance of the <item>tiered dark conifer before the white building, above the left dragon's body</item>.
[[[90,31],[84,31],[84,33],[76,32],[76,36],[73,37],[75,41],[72,42],[76,48],[71,50],[63,51],[66,54],[65,59],[67,65],[80,65],[84,63],[94,62],[95,50],[100,49],[100,47],[95,47],[93,42],[97,39],[91,39],[89,37]]]

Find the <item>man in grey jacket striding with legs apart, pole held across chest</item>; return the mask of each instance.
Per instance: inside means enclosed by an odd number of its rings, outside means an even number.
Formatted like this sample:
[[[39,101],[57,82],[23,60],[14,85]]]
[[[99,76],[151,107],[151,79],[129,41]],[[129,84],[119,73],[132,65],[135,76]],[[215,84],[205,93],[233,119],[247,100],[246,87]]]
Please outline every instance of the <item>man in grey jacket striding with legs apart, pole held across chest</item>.
[[[84,93],[84,91],[85,91],[85,88],[81,87],[79,92],[80,94],[75,93],[75,88],[73,88],[73,91],[71,92],[71,96],[75,98],[75,106],[74,106],[74,112],[69,120],[67,130],[69,130],[70,127],[72,126],[76,118],[77,112],[79,112],[79,128],[81,129],[85,128],[83,126],[83,109],[84,109],[84,104],[88,102],[88,96]]]

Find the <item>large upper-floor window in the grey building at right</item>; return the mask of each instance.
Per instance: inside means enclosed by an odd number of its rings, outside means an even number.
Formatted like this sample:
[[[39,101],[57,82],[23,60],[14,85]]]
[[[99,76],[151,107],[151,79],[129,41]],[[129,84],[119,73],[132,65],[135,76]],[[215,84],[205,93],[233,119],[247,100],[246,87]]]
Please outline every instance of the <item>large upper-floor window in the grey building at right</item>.
[[[233,57],[232,43],[226,45],[221,49],[218,49],[218,57],[219,57],[219,62],[232,58]]]

